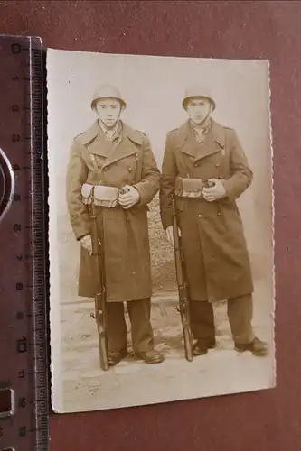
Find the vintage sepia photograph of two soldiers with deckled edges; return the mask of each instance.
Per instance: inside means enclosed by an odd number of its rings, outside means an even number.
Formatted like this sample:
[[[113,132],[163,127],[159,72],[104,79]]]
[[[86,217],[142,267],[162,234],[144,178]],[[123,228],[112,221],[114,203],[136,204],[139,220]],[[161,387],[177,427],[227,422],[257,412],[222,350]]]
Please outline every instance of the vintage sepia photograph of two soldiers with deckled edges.
[[[47,51],[54,411],[275,387],[269,77]]]

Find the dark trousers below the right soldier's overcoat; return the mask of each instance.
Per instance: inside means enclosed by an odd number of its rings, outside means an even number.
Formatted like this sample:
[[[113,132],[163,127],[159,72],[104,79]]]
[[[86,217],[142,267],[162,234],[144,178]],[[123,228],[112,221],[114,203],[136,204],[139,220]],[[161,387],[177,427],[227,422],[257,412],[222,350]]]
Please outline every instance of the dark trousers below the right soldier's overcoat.
[[[191,328],[195,340],[211,340],[215,337],[212,303],[192,301]],[[234,343],[245,345],[255,338],[253,318],[253,298],[251,294],[231,298],[227,301],[227,314]]]

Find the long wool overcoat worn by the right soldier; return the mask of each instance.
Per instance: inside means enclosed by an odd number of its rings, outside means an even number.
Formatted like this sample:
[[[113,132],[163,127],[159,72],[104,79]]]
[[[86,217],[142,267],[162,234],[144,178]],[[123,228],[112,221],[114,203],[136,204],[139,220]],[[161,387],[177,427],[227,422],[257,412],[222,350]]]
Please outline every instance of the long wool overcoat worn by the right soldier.
[[[171,196],[177,176],[222,179],[227,191],[213,202],[176,198],[191,299],[217,301],[251,293],[249,253],[236,199],[253,174],[237,133],[213,120],[202,143],[189,121],[167,133],[160,189],[165,229],[173,224]]]

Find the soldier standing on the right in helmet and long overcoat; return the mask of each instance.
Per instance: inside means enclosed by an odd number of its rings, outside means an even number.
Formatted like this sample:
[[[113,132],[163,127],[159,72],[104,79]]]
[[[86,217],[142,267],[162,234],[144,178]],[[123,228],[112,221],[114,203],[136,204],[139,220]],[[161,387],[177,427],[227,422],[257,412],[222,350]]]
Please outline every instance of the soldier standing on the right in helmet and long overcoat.
[[[235,349],[267,354],[252,328],[253,281],[236,199],[253,174],[237,133],[213,121],[215,102],[202,87],[187,89],[189,116],[167,133],[160,208],[167,240],[174,244],[171,198],[179,221],[184,269],[191,299],[193,355],[215,347],[212,302],[228,300]]]

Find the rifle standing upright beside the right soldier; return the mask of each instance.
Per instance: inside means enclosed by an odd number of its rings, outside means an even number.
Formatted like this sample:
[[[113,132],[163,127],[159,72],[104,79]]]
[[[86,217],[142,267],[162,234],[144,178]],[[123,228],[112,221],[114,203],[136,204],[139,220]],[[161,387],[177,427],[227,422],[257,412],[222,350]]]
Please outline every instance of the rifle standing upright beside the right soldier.
[[[174,260],[176,270],[176,280],[179,292],[179,308],[176,308],[181,314],[183,327],[183,340],[185,348],[185,358],[188,362],[193,361],[193,335],[190,327],[190,306],[187,283],[184,277],[183,252],[181,250],[181,238],[179,236],[176,209],[174,197],[172,198],[173,206],[173,232],[174,232]]]

